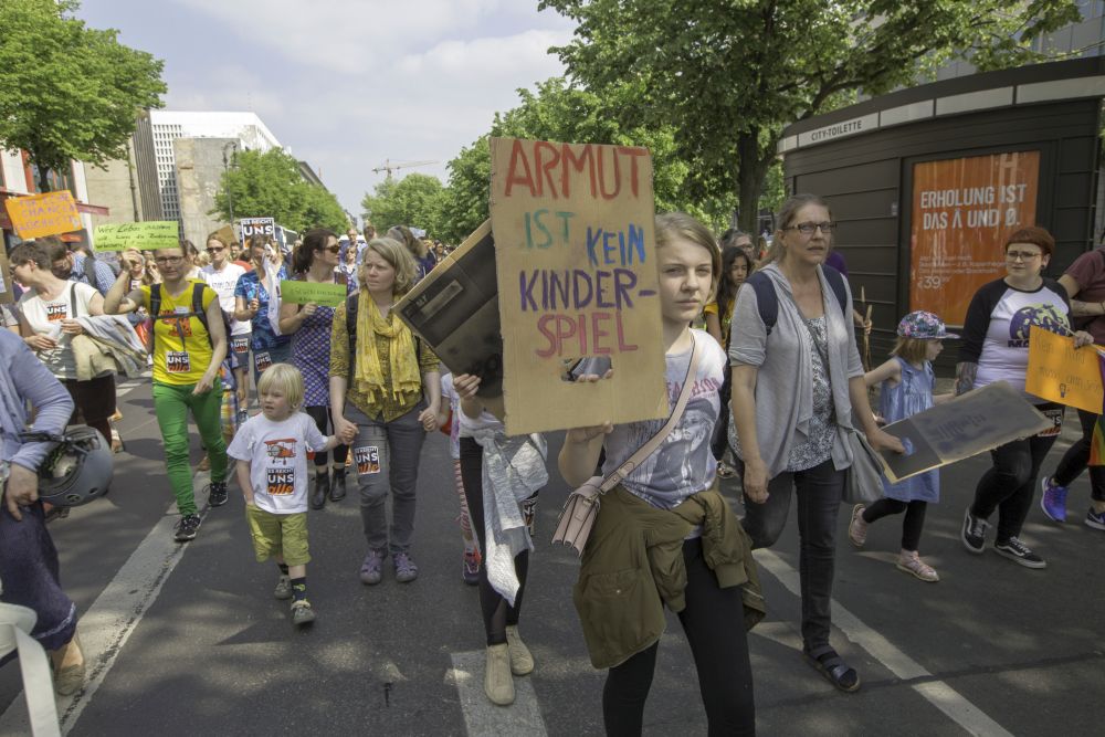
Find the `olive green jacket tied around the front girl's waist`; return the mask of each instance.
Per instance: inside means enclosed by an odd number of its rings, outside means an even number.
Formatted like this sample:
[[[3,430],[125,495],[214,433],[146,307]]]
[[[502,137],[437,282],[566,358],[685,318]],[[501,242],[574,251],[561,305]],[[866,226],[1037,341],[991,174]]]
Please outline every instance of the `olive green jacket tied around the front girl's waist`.
[[[683,541],[698,525],[703,557],[718,586],[741,588],[745,617],[734,627],[751,629],[764,619],[751,544],[716,487],[670,512],[622,486],[603,495],[601,504],[572,593],[591,665],[613,667],[652,646],[664,633],[664,606],[683,611]]]

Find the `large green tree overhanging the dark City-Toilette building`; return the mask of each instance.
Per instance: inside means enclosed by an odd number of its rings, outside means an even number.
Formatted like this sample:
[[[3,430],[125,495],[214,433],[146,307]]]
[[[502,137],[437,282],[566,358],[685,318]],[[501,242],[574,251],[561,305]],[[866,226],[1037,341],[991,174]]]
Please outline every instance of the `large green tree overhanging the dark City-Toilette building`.
[[[926,78],[1041,59],[1031,42],[1080,19],[1070,0],[540,0],[578,22],[554,49],[602,97],[632,85],[620,120],[671,126],[684,196],[738,193],[751,230],[785,125]]]

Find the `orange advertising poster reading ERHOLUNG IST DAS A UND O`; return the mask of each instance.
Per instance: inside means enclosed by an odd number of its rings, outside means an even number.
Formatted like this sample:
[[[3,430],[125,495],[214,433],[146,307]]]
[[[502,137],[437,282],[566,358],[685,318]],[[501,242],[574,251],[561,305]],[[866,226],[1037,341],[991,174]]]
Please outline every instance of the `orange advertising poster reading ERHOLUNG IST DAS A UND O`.
[[[962,325],[978,287],[1002,276],[1006,239],[1035,224],[1040,151],[913,168],[909,309]]]

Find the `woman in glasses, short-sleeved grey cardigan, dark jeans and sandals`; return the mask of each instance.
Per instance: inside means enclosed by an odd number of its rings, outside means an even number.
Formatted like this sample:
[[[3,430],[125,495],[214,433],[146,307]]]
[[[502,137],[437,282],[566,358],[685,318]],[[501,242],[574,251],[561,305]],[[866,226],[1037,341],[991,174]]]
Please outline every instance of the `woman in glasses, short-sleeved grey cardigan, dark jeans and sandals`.
[[[852,464],[853,418],[876,450],[904,449],[876,427],[867,403],[848,282],[822,266],[834,228],[828,203],[796,194],[777,222],[766,265],[737,293],[729,338],[743,525],[754,548],[770,547],[797,497],[802,653],[833,686],[853,692],[860,676],[829,643],[836,513]]]

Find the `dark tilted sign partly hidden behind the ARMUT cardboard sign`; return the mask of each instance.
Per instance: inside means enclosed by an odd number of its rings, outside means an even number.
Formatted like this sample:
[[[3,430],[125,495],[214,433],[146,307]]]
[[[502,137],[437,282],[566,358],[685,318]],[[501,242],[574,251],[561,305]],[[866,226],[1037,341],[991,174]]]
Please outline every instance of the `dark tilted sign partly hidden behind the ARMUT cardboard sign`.
[[[495,241],[485,221],[392,310],[453,373],[481,377],[478,396],[503,393]]]

